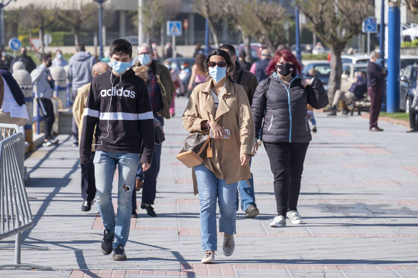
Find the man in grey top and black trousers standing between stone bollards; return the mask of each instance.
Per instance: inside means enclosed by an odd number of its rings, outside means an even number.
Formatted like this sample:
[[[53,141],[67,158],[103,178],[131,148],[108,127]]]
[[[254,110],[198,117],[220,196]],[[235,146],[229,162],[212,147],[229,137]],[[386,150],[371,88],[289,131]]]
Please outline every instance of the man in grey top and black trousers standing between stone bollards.
[[[55,120],[54,107],[51,102],[54,80],[48,70],[48,67],[52,65],[51,55],[43,53],[39,60],[41,60],[41,65],[39,65],[35,76],[32,78],[32,87],[34,88],[35,98],[38,100],[39,109],[43,112],[45,141],[42,145],[46,147],[58,144],[58,140],[51,136],[52,124]]]

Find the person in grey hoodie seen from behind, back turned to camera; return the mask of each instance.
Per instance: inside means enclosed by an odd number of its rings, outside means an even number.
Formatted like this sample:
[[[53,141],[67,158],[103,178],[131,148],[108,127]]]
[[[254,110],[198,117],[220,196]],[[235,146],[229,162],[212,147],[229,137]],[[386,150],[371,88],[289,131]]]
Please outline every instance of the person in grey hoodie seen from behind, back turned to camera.
[[[76,54],[71,56],[68,61],[67,79],[72,83],[72,97],[75,100],[77,89],[92,82],[92,68],[96,63],[96,58],[86,52],[84,44],[78,43],[76,46]],[[76,121],[72,121],[71,132],[73,135],[73,147],[78,147],[78,128]]]

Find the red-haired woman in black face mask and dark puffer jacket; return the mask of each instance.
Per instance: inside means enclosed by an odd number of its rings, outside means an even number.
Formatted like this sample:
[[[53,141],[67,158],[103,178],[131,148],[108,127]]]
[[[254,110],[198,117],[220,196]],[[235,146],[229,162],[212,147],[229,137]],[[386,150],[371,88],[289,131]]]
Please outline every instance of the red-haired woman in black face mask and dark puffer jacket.
[[[297,204],[301,190],[303,161],[312,140],[307,105],[315,109],[328,105],[322,81],[301,79],[302,66],[289,50],[278,50],[258,84],[252,100],[255,138],[264,118],[262,137],[274,175],[274,195],[278,215],[271,227],[285,227],[286,216],[302,224]],[[258,144],[254,144],[258,150]]]

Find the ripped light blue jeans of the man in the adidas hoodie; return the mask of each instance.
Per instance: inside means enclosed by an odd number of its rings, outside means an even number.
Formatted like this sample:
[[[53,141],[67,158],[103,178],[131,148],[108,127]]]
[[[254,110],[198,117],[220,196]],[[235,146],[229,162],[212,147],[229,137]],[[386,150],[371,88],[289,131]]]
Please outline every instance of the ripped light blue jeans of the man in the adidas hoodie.
[[[135,189],[135,175],[139,163],[139,153],[115,153],[97,151],[94,155],[96,177],[96,199],[103,226],[115,235],[113,248],[125,246],[132,213],[132,190]],[[112,183],[116,165],[119,178],[117,186],[117,217],[112,203]]]

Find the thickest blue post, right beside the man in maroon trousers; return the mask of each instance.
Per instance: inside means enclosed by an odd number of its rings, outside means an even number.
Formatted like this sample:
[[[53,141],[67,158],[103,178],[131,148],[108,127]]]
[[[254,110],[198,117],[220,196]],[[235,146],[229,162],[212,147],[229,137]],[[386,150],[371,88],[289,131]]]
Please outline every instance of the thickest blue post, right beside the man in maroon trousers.
[[[389,0],[387,97],[388,113],[399,112],[400,0]]]

